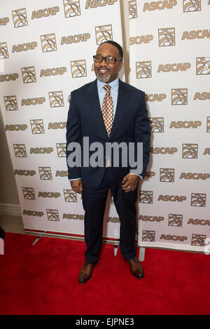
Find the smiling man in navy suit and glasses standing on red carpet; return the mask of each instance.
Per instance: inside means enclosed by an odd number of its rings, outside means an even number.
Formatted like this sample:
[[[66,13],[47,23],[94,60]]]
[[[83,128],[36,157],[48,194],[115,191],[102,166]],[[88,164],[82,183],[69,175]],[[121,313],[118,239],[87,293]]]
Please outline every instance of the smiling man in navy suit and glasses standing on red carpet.
[[[111,189],[113,201],[120,217],[120,251],[130,271],[137,278],[144,277],[144,269],[136,257],[136,208],[137,187],[140,177],[146,173],[149,160],[150,126],[146,109],[145,94],[118,79],[123,67],[123,49],[114,41],[105,41],[94,55],[94,72],[97,79],[71,93],[66,125],[66,159],[69,180],[73,191],[82,194],[85,210],[85,263],[78,281],[85,283],[92,276],[102,245],[103,219],[106,197]],[[85,138],[90,143],[134,143],[134,158],[137,159],[137,144],[143,143],[143,169],[131,173],[130,164],[120,161],[114,166],[110,156],[101,156],[99,166],[72,165],[72,145],[79,143],[85,148]],[[89,151],[89,150],[88,150]],[[93,155],[87,153],[82,160]],[[100,157],[100,156],[99,156]],[[125,159],[124,159],[125,160]],[[91,162],[91,161],[90,161]],[[90,163],[91,164],[91,163]]]

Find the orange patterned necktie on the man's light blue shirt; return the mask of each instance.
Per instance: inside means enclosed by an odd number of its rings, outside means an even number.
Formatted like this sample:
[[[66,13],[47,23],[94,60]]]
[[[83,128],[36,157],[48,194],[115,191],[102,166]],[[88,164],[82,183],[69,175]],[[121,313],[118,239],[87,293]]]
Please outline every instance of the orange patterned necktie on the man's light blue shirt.
[[[111,86],[105,85],[104,89],[106,90],[106,95],[102,105],[102,116],[104,119],[107,135],[109,136],[111,127],[113,125],[113,100],[110,93]]]

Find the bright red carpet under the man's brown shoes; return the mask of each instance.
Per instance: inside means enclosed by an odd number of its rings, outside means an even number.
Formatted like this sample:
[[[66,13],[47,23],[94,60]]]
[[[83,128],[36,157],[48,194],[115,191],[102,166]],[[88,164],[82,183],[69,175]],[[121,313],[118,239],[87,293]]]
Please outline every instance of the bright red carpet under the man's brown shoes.
[[[209,314],[210,255],[146,249],[137,279],[103,245],[90,281],[78,283],[85,243],[7,233],[0,255],[0,314]]]

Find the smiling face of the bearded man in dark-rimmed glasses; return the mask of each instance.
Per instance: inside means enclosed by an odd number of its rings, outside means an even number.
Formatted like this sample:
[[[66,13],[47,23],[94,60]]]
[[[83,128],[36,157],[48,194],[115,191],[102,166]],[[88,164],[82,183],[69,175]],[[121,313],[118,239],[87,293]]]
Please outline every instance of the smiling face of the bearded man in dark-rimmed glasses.
[[[113,58],[120,59],[118,48],[110,43],[104,43],[102,46],[99,46],[96,55],[102,55],[103,57],[110,55],[113,56]],[[94,62],[94,73],[99,81],[111,83],[111,81],[118,78],[118,73],[122,67],[123,62],[116,60],[114,64],[107,64],[103,59],[101,63]]]

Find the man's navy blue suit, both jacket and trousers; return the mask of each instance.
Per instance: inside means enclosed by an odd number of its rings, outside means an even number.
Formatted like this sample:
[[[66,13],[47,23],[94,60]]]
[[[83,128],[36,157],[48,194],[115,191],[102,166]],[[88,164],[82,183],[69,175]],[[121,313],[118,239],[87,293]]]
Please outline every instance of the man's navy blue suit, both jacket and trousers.
[[[79,142],[82,146],[83,137],[89,137],[90,143],[102,143],[104,149],[106,142],[125,142],[127,144],[143,142],[143,170],[139,175],[144,177],[149,161],[151,138],[144,92],[119,81],[116,114],[111,134],[108,137],[99,103],[97,79],[73,90],[66,123],[66,159],[71,154],[71,151],[68,151],[69,143]],[[68,166],[69,179],[81,177],[83,182],[85,242],[87,244],[85,259],[89,263],[95,262],[99,257],[104,210],[109,188],[120,217],[121,252],[127,259],[135,257],[137,189],[127,193],[122,189],[123,177],[129,172],[129,163],[127,167],[123,167],[120,162],[116,168],[111,162],[111,167],[106,168],[106,159],[104,159],[103,167],[69,168]]]

